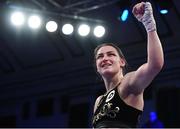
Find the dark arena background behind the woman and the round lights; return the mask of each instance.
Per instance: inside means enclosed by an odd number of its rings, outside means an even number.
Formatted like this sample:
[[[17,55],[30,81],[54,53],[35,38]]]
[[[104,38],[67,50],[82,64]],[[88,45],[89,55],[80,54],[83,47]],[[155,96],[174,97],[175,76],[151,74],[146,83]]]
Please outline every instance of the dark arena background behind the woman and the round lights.
[[[141,124],[156,111],[165,127],[180,127],[180,1],[152,0],[165,54],[165,65],[145,91]],[[136,0],[1,0],[0,10],[0,127],[91,127],[95,99],[104,92],[93,67],[93,50],[104,42],[117,44],[131,70],[146,62],[146,32],[129,14],[118,19],[124,7]],[[161,15],[160,5],[169,13]],[[15,8],[39,14],[39,30],[10,23]],[[74,18],[77,16],[77,18]],[[45,30],[53,19],[59,28]],[[76,32],[63,35],[65,22],[76,27],[86,22],[106,27],[103,38]]]

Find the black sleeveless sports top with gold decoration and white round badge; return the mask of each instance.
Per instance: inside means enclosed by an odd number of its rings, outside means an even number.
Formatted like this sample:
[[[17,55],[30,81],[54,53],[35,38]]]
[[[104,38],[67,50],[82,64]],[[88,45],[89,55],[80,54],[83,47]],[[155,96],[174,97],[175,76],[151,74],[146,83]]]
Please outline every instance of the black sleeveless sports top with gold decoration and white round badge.
[[[119,96],[117,87],[103,95],[93,115],[94,128],[134,128],[142,114],[127,105]]]

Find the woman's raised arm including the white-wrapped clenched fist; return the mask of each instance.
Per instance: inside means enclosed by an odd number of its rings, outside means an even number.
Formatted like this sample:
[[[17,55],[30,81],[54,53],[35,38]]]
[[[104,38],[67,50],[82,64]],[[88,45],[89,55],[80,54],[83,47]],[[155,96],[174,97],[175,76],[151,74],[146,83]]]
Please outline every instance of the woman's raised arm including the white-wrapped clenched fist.
[[[134,16],[143,23],[147,31],[147,62],[130,73],[129,85],[134,92],[141,93],[160,72],[164,64],[161,41],[156,31],[152,7],[149,2],[141,2],[133,8]]]

